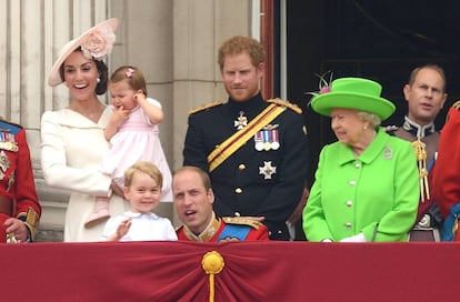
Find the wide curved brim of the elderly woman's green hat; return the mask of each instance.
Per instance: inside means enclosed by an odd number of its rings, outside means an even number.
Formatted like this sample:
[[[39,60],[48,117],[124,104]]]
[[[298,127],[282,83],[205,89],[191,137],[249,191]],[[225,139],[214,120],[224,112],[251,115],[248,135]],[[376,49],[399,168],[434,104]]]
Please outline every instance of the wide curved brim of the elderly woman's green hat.
[[[361,93],[328,92],[319,94],[311,101],[311,108],[322,114],[330,117],[332,108],[356,109],[379,115],[382,120],[394,113],[396,107],[383,98],[371,97]]]

